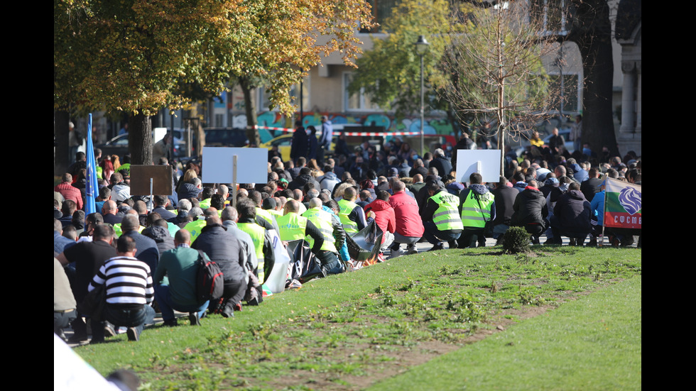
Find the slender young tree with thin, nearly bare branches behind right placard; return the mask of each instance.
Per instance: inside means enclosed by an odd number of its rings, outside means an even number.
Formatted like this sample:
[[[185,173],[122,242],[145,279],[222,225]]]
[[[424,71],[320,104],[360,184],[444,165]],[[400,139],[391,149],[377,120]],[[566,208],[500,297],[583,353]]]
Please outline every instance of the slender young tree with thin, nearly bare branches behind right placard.
[[[518,140],[558,107],[562,94],[551,87],[542,61],[558,44],[543,35],[540,17],[526,1],[467,11],[452,13],[452,23],[467,28],[453,35],[445,53],[445,94],[462,123],[495,123],[485,136],[497,138],[505,150],[506,136]]]

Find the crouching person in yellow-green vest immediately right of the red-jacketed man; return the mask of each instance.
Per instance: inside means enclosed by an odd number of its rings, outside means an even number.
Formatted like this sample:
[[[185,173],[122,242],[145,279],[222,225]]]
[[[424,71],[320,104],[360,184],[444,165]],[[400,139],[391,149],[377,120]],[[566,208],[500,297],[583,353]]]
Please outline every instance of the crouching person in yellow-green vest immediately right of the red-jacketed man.
[[[423,210],[423,237],[433,245],[429,251],[445,248],[442,241],[447,241],[450,248],[457,248],[457,239],[462,235],[464,226],[459,214],[459,197],[450,194],[435,181],[425,185],[428,199]]]

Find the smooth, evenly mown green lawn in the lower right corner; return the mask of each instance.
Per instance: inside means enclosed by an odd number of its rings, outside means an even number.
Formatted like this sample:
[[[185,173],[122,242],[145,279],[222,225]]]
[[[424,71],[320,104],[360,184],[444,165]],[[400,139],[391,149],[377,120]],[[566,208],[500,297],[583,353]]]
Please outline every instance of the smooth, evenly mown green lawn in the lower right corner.
[[[370,390],[640,390],[641,288],[597,290]]]

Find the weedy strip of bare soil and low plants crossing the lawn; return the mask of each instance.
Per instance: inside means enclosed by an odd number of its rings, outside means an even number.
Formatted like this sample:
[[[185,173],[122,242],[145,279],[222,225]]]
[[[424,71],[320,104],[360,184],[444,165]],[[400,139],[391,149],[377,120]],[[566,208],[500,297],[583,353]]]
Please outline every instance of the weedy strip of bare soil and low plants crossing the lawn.
[[[211,351],[165,372],[197,376],[193,381],[224,378],[201,389],[362,390],[610,283],[584,277],[589,283],[567,285],[582,292],[556,290],[545,287],[545,269],[534,273],[525,265],[488,277],[482,268],[484,276],[472,279],[460,270],[465,265],[457,266],[443,265],[442,275],[425,282],[379,286],[363,299],[212,339]]]

